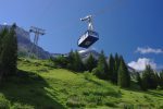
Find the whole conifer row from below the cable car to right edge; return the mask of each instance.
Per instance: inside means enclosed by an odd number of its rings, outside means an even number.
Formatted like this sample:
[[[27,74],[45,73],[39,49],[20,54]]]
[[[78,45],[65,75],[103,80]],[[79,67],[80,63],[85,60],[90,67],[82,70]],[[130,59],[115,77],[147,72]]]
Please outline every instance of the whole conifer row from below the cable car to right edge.
[[[60,56],[53,58],[52,61],[59,68],[68,69],[74,72],[89,71],[101,80],[110,81],[120,87],[130,86],[130,72],[122,56],[110,55],[106,59],[103,51],[101,51],[98,60],[90,53],[86,60],[82,60],[78,51],[72,50],[67,56]],[[142,90],[163,88],[163,71],[155,72],[147,64],[146,70],[135,72],[136,83]],[[133,81],[134,81],[133,80]]]

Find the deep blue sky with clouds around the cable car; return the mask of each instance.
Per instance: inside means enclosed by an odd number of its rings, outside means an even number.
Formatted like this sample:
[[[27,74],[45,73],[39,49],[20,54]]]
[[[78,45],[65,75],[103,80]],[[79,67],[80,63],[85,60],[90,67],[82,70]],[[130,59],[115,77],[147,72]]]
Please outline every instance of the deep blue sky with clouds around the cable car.
[[[0,23],[29,29],[45,28],[39,46],[50,52],[65,53],[77,47],[87,29],[79,21],[95,15],[95,29],[100,40],[91,48],[123,55],[134,68],[163,64],[162,0],[0,0]],[[160,52],[158,52],[160,50]],[[143,51],[143,53],[142,53]]]

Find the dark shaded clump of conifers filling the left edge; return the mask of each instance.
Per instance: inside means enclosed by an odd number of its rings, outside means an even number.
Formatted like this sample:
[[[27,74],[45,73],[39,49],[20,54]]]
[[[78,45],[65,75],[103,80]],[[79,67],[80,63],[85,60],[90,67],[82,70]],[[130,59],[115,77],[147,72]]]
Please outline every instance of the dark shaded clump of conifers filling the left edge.
[[[0,32],[0,82],[16,73],[17,38],[15,28],[16,24],[13,24]]]

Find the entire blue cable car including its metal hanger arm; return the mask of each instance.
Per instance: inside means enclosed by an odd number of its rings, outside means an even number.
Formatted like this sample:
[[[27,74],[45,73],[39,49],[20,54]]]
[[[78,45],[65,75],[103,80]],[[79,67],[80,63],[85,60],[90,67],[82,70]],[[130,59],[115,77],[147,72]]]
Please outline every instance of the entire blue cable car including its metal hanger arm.
[[[92,16],[88,15],[82,21],[88,21],[88,31],[78,39],[78,47],[89,48],[92,44],[99,40],[99,34],[93,31]]]

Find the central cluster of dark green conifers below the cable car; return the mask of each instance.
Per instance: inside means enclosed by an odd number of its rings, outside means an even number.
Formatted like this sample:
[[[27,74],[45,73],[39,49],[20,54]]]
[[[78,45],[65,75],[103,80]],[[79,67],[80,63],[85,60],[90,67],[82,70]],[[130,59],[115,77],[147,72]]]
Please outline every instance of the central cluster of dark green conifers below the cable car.
[[[59,68],[68,69],[74,72],[89,71],[101,80],[111,81],[120,87],[130,86],[130,75],[122,56],[117,53],[115,57],[110,55],[109,60],[103,51],[101,51],[98,60],[90,53],[89,57],[83,61],[78,51],[72,50],[67,57],[60,56],[51,58],[54,64]]]

